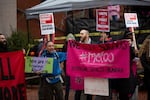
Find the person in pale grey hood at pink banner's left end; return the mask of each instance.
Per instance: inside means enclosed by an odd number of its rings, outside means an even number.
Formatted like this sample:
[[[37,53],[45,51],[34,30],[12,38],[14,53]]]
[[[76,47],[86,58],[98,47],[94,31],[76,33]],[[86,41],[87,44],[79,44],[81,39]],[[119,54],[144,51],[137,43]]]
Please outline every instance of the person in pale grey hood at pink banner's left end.
[[[75,37],[72,33],[69,33],[66,37],[66,41],[65,41],[65,44],[64,44],[63,49],[62,49],[63,52],[67,52],[68,40],[75,40]],[[64,72],[65,72],[65,86],[66,86],[66,88],[65,88],[65,100],[68,100],[69,90],[70,90],[70,77],[66,73],[66,60],[64,61]]]

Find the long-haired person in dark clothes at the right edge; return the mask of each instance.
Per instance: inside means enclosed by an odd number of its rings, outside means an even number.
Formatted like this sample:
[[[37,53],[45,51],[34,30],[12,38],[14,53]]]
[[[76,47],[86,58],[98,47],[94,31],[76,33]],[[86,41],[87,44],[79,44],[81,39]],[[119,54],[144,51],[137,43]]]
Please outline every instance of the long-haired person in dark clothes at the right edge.
[[[150,100],[150,35],[144,40],[140,50],[139,57],[144,68],[144,84],[147,89],[147,100]]]

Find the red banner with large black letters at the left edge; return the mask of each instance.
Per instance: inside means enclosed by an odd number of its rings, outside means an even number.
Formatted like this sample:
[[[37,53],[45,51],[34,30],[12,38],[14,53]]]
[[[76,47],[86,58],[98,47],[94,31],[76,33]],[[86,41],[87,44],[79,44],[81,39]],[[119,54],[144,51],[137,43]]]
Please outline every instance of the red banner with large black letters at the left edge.
[[[0,99],[27,100],[22,51],[0,53]]]

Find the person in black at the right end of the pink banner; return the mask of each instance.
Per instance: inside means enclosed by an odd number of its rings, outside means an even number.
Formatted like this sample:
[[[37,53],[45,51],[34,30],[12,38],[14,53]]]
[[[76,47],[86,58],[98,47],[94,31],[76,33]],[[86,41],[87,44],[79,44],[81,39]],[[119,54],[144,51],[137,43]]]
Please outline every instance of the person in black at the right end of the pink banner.
[[[130,74],[129,78],[115,79],[115,89],[119,93],[119,100],[130,100],[132,99],[137,85],[137,78],[133,71],[133,60],[136,57],[137,50],[135,50],[133,45],[132,32],[126,31],[123,39],[127,39],[130,44]]]

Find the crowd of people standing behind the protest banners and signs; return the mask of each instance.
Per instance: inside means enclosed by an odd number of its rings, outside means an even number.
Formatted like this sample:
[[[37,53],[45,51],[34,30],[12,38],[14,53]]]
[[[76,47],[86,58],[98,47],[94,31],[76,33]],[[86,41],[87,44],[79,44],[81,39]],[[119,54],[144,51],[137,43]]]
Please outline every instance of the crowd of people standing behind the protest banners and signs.
[[[90,38],[89,31],[87,28],[80,30],[80,43],[83,44],[103,44],[107,42],[113,42],[109,32],[102,32],[99,41],[93,41]],[[123,39],[127,39],[130,43],[130,75],[129,78],[109,79],[109,96],[92,96],[85,94],[86,100],[113,100],[112,95],[117,93],[118,100],[137,100],[138,93],[137,88],[137,77],[136,70],[133,70],[133,61],[135,57],[139,57],[144,68],[144,82],[148,90],[148,99],[150,100],[150,35],[144,40],[139,50],[134,48],[132,32],[127,31],[124,33]],[[67,60],[67,43],[68,40],[76,40],[73,34],[68,34],[64,43],[62,52],[57,52],[54,48],[52,41],[47,41],[44,44],[44,49],[39,57],[51,57],[53,61],[53,73],[41,73],[40,75],[40,88],[39,88],[39,100],[69,100],[70,93],[70,76],[66,74],[66,60]],[[42,48],[40,44],[40,48]],[[0,52],[7,52],[7,40],[4,34],[0,34]],[[60,63],[63,63],[63,69],[60,67]],[[63,80],[62,71],[65,72],[65,95],[63,93]],[[114,92],[115,91],[115,92]],[[116,92],[117,91],[117,92]],[[74,100],[81,100],[82,90],[75,90]],[[134,97],[135,96],[135,97]],[[55,99],[54,99],[55,98]],[[136,98],[136,99],[135,99]]]

